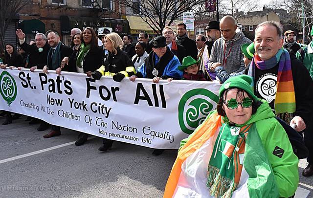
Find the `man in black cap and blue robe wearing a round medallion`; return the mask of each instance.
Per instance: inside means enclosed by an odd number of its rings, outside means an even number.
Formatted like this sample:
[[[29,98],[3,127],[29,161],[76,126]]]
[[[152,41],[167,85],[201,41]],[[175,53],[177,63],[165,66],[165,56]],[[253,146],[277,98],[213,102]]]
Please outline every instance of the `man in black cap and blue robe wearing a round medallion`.
[[[178,70],[179,59],[166,44],[164,36],[158,36],[149,42],[152,50],[144,64],[138,67],[136,75],[130,77],[131,81],[139,78],[152,78],[154,83],[168,78],[181,79],[182,72]],[[160,155],[163,149],[155,149],[152,154]]]

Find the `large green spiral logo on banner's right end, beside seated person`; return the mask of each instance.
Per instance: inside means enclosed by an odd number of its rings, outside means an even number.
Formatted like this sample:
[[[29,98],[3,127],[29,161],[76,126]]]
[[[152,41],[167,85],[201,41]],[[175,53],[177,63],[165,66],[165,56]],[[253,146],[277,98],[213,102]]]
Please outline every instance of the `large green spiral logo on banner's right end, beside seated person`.
[[[216,108],[219,97],[212,91],[196,88],[185,93],[178,105],[179,126],[182,132],[191,134]],[[213,109],[214,108],[214,109]]]

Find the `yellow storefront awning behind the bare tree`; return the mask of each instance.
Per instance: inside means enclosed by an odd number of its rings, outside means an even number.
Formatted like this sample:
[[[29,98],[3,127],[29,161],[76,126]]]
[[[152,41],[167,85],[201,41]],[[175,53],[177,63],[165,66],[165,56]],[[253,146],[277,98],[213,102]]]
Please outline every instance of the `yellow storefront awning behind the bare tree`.
[[[141,32],[156,34],[156,32],[149,26],[149,24],[144,22],[140,17],[124,16],[124,18],[126,18],[129,23],[131,34],[139,34]],[[167,20],[167,22],[169,21]],[[174,31],[176,31],[177,29],[176,24],[178,24],[178,21],[174,21],[170,25],[170,27],[173,28]]]

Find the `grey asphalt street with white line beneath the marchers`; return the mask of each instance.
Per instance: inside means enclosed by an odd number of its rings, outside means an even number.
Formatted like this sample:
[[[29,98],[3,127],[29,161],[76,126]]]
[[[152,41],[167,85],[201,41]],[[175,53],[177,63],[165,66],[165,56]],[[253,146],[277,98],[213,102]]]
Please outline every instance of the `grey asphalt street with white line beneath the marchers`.
[[[25,116],[0,125],[0,198],[161,198],[176,150],[152,155],[153,149],[114,142],[99,152],[99,137],[75,146],[78,132],[44,139]],[[0,117],[0,123],[4,117]],[[313,177],[301,176],[296,198],[313,197]]]

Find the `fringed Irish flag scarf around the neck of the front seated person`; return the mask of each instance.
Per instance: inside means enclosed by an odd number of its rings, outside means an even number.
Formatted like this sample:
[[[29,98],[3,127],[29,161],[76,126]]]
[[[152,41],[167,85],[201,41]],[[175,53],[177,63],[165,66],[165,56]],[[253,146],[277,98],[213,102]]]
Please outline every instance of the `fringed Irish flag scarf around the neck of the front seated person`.
[[[208,166],[206,186],[214,197],[230,198],[237,188],[250,127],[251,124],[242,128],[223,124]]]

